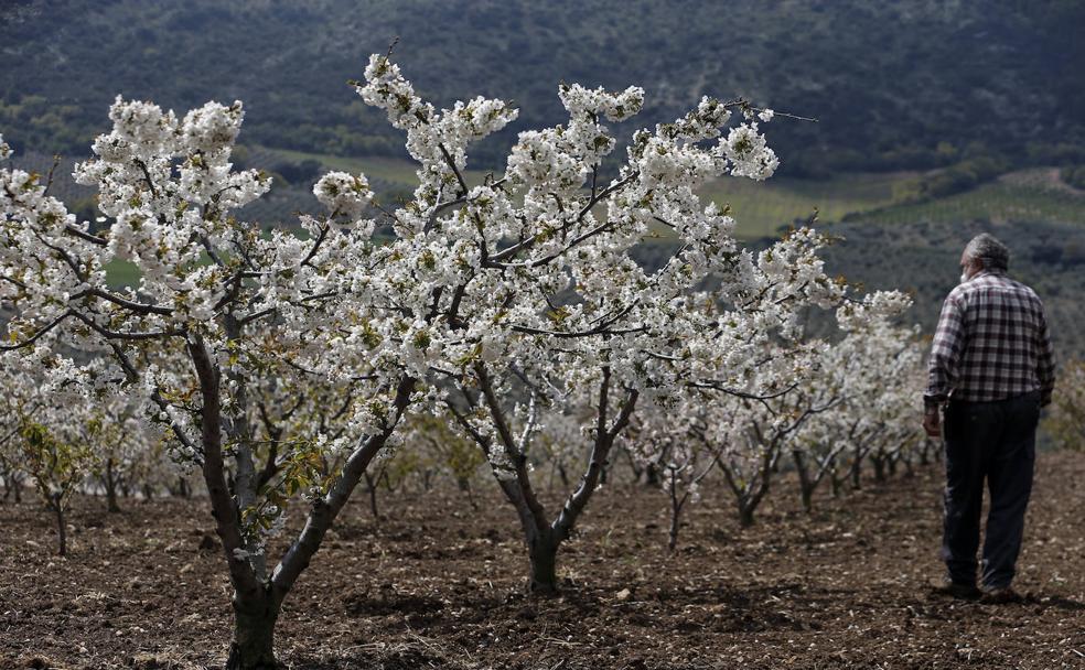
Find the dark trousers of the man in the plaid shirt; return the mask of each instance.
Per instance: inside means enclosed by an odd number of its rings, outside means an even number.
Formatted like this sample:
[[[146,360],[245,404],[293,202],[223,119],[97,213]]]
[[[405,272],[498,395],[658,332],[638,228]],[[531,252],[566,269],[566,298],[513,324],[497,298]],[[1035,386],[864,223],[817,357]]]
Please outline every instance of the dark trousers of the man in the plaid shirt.
[[[945,414],[946,493],[942,558],[949,579],[976,583],[984,480],[990,511],[984,541],[985,588],[1013,580],[1032,493],[1039,392],[996,402],[950,401]]]

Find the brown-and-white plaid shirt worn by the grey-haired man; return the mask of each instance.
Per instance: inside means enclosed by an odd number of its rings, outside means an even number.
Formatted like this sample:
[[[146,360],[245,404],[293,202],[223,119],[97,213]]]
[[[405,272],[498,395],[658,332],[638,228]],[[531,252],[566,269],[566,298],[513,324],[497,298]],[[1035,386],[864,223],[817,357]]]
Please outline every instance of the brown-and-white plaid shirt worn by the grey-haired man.
[[[984,270],[946,298],[934,334],[927,389],[936,404],[949,398],[990,402],[1039,390],[1051,400],[1055,363],[1043,303],[1003,272]]]

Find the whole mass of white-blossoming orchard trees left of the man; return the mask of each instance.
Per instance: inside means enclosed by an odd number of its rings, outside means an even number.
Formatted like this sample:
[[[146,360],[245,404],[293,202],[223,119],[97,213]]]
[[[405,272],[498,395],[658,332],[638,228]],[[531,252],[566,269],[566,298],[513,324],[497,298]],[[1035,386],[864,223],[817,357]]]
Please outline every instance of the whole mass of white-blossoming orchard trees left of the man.
[[[380,55],[352,86],[419,164],[399,206],[332,172],[313,190],[324,214],[239,220],[270,186],[230,163],[240,102],[178,117],[118,98],[75,171],[99,223],[49,180],[0,170],[4,474],[26,473],[61,515],[89,469],[107,491],[197,472],[234,590],[228,668],[275,666],[280,606],[344,504],[411,454],[461,483],[487,464],[531,588],[550,592],[620,452],[666,493],[676,542],[709,473],[749,522],[784,458],[809,504],[820,482],[922,445],[920,352],[895,324],[909,299],[826,274],[808,228],[743,248],[729,208],[697,195],[771,176],[772,110],[706,97],[620,158],[605,123],[643,91],[562,85],[568,122],[520,132],[504,174],[472,186],[469,148],[516,109],[437,109]],[[646,268],[636,250],[659,235],[677,244]],[[107,282],[118,260],[138,285]],[[808,333],[814,312],[835,329]],[[545,460],[580,475],[557,510],[538,496]],[[304,523],[271,555],[288,512]]]

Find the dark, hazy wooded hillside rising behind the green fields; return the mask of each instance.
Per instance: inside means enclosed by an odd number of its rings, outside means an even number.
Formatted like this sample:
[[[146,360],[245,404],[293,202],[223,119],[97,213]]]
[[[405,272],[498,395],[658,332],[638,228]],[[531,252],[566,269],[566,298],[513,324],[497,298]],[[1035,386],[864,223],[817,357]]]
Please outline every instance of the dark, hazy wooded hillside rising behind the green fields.
[[[483,168],[517,129],[562,120],[560,80],[644,86],[642,125],[702,94],[817,117],[769,127],[793,175],[1085,163],[1083,29],[1077,0],[3,0],[0,132],[77,155],[117,94],[178,110],[240,98],[244,143],[402,155],[345,85],[398,35],[438,104],[520,106]]]

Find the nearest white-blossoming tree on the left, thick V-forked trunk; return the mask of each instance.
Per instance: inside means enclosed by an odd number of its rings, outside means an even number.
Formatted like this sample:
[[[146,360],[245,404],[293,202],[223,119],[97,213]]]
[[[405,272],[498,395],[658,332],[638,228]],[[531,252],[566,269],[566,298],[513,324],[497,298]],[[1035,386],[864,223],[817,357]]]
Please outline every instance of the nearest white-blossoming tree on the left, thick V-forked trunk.
[[[88,383],[121,386],[168,428],[174,456],[203,475],[234,587],[227,667],[270,668],[283,598],[393,436],[413,388],[399,352],[372,350],[383,313],[366,316],[354,294],[356,321],[335,317],[344,312],[339,282],[355,269],[344,259],[368,264],[376,248],[372,227],[358,223],[372,193],[363,177],[331,173],[315,187],[330,214],[301,221],[309,239],[264,236],[233,214],[269,185],[256,171],[232,170],[239,102],[178,118],[118,99],[110,118],[112,131],[97,138],[96,158],[75,175],[97,187],[100,210],[114,219],[108,230],[77,221],[37,175],[0,170],[0,301],[13,313],[2,350],[18,357],[63,343],[79,361],[105,367]],[[138,287],[109,287],[112,260],[137,266]],[[329,439],[311,424],[266,478],[254,402],[272,380],[307,389],[355,383],[356,401],[344,418],[351,430]],[[329,454],[343,456],[333,472],[323,468]],[[307,501],[305,525],[269,562],[266,538],[281,527],[290,498]]]

